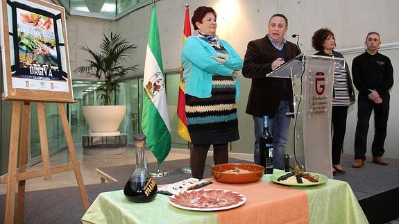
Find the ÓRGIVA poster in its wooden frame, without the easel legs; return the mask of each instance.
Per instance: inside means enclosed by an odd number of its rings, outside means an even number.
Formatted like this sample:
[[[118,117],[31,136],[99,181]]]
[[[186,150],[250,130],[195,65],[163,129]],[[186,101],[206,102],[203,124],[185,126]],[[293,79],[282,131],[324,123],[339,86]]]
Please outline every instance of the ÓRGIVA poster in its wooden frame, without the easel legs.
[[[0,10],[3,99],[74,101],[64,8],[2,0]]]

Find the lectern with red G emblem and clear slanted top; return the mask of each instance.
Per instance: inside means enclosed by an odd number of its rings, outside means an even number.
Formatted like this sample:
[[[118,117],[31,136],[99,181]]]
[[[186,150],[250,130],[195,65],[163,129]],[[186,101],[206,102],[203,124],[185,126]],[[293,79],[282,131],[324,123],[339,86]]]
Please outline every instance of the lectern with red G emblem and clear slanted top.
[[[306,171],[322,173],[328,178],[332,178],[331,107],[335,63],[345,63],[345,60],[300,54],[266,75],[291,78],[295,160],[298,161],[296,153],[302,148]]]

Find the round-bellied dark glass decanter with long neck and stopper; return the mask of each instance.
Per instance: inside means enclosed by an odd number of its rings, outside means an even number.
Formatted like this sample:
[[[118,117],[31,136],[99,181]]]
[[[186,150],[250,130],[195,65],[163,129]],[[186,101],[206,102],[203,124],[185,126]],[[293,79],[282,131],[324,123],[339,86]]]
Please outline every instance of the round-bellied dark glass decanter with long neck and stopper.
[[[124,187],[126,198],[132,203],[147,203],[155,199],[158,187],[155,180],[144,168],[144,142],[146,136],[133,136],[136,142],[136,169]]]

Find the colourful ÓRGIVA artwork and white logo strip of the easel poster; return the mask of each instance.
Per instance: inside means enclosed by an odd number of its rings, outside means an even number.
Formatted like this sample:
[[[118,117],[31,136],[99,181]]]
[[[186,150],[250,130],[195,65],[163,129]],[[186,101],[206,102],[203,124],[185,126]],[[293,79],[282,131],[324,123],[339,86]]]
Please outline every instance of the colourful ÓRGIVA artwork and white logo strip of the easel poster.
[[[67,73],[62,71],[56,24],[50,16],[16,8],[16,67],[12,87],[68,92]]]

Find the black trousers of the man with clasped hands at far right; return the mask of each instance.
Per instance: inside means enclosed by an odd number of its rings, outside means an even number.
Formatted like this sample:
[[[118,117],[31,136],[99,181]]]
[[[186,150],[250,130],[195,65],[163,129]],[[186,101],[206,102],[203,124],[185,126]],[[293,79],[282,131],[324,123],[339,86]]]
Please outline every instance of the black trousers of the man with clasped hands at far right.
[[[382,103],[375,104],[367,96],[359,94],[357,100],[357,126],[355,135],[355,159],[366,159],[367,132],[371,112],[374,110],[374,139],[371,146],[373,157],[384,155],[385,137],[389,117],[389,93],[380,96]]]

